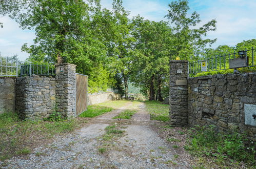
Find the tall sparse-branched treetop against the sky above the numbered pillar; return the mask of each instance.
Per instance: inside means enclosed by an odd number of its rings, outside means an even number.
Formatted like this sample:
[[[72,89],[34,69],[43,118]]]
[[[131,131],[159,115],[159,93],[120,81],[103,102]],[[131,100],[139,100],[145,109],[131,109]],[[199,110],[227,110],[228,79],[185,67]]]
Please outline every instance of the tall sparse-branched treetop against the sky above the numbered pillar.
[[[170,59],[177,56],[181,59],[196,59],[207,44],[211,45],[216,41],[216,39],[203,39],[208,31],[216,30],[216,20],[212,19],[202,27],[193,29],[201,20],[196,12],[187,17],[188,0],[173,1],[169,4],[169,8],[165,17],[169,20],[172,29],[172,36],[169,37]]]

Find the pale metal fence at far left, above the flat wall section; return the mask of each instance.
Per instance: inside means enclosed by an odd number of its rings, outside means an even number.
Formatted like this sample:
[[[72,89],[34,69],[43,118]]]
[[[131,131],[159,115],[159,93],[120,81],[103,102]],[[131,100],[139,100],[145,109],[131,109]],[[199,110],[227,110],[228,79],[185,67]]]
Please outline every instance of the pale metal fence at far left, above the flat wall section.
[[[0,76],[18,76],[18,60],[0,57]]]

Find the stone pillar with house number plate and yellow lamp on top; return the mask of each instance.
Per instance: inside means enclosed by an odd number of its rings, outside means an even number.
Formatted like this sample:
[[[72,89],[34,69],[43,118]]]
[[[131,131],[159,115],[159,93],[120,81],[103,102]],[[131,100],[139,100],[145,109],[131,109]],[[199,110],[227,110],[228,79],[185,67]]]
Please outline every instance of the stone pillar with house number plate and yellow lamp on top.
[[[188,124],[188,61],[170,60],[170,118],[172,126]]]

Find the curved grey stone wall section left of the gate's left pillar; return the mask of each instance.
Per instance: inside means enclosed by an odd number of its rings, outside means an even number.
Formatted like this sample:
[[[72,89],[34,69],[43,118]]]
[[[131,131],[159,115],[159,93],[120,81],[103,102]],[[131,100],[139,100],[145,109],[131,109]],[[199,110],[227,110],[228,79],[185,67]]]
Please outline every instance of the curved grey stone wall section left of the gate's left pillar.
[[[18,77],[16,112],[23,118],[42,119],[55,111],[55,78],[52,76]]]

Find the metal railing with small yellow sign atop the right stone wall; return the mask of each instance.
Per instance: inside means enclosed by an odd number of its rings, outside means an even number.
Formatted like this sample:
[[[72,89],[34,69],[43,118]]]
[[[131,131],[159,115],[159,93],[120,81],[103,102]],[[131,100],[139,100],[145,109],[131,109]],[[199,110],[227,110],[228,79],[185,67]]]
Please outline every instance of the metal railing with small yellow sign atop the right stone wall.
[[[253,49],[253,47],[249,50],[245,49],[245,59],[247,62],[246,67],[256,66],[256,57],[254,56],[255,50],[256,49]],[[215,56],[198,61],[191,61],[188,64],[188,72],[189,74],[196,74],[200,72],[211,72],[231,69],[229,68],[229,59],[237,58],[238,55],[238,52],[234,52],[223,56]],[[204,70],[202,70],[202,62],[206,63]]]

